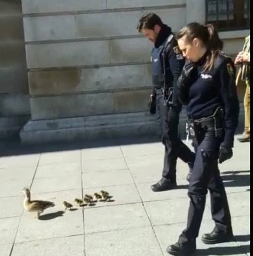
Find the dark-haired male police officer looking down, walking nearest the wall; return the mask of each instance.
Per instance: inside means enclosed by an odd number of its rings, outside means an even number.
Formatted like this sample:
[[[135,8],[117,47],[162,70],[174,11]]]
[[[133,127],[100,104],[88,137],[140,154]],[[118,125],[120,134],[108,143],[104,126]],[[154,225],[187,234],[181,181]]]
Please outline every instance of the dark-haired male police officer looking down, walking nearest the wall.
[[[195,154],[180,140],[177,126],[181,104],[177,97],[177,80],[181,74],[184,59],[169,26],[162,23],[160,17],[149,13],[139,19],[137,29],[149,41],[154,43],[151,53],[153,93],[150,99],[156,102],[160,119],[162,143],[165,145],[162,178],[153,184],[154,192],[176,187],[176,159],[188,163],[190,170]],[[173,93],[172,93],[173,91]],[[151,111],[150,111],[151,112]]]

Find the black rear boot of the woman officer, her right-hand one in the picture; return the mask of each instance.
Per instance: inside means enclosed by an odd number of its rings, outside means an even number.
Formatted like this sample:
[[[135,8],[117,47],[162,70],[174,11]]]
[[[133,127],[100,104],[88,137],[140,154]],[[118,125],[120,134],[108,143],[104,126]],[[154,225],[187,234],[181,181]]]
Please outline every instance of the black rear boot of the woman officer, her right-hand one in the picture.
[[[232,231],[218,230],[216,227],[211,233],[202,236],[202,242],[207,245],[230,242],[233,241],[233,239]]]

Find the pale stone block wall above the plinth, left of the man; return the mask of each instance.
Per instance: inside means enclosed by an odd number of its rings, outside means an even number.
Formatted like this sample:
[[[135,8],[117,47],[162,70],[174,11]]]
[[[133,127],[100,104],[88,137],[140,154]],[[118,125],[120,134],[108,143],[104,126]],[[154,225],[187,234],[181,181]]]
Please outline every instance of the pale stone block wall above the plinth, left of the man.
[[[152,10],[174,30],[186,22],[184,0],[22,0],[22,8],[32,120],[146,111],[152,45],[137,21]]]

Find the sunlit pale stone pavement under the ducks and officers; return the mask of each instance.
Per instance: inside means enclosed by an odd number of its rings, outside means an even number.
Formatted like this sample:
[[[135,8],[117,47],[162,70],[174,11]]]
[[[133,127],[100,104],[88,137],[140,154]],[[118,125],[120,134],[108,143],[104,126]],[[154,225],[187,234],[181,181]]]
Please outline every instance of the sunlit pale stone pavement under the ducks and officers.
[[[204,245],[213,229],[207,205],[198,255],[249,255],[250,144],[235,142],[234,158],[220,165],[231,207],[235,241]],[[107,147],[41,146],[0,157],[0,256],[165,256],[186,225],[187,165],[178,160],[178,189],[154,193],[163,162],[161,143]],[[8,155],[9,152],[9,155]],[[22,154],[21,154],[22,153]],[[40,219],[23,212],[20,190],[52,200]],[[85,193],[109,191],[113,202],[64,211]]]

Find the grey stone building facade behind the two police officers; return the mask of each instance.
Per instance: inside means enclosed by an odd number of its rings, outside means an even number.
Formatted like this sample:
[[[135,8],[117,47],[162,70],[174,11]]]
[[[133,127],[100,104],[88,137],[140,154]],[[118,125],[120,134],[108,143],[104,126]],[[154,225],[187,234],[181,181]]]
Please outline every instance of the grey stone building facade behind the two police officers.
[[[205,0],[0,0],[0,136],[24,143],[154,134],[152,45],[136,30],[156,12],[174,31],[206,22]],[[249,30],[220,32],[234,56]]]

